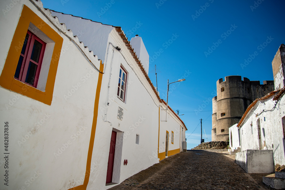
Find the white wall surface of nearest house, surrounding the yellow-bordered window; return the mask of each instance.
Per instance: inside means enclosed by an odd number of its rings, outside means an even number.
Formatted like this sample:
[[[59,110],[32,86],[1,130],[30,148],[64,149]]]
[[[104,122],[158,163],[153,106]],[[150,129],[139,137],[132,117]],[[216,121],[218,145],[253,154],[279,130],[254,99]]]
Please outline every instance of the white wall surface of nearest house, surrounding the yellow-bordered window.
[[[9,26],[0,29],[1,36],[5,36],[1,38],[0,71],[3,69],[23,4],[58,31],[30,1],[16,2],[0,19],[1,26]],[[1,10],[10,4],[11,1],[1,1]],[[63,47],[67,46],[68,50],[60,56],[51,105],[0,87],[0,122],[3,126],[4,122],[9,122],[10,152],[9,186],[3,187],[4,170],[1,169],[1,189],[69,189],[74,184],[83,184],[83,181],[80,182],[80,174],[86,170],[86,144],[90,141],[98,71],[75,44],[70,43],[62,33],[58,33],[64,39]],[[99,66],[99,63],[97,61],[95,64]],[[85,81],[82,79],[84,76],[88,78]],[[81,86],[71,97],[65,98],[64,95],[68,95],[68,91],[78,83]],[[14,98],[17,101],[9,104]],[[5,104],[11,107],[6,108]],[[3,139],[1,138],[1,145],[4,143]],[[71,144],[62,148],[69,141]],[[58,149],[63,151],[60,153]],[[3,149],[0,153],[3,155]],[[35,176],[36,179],[33,178]]]

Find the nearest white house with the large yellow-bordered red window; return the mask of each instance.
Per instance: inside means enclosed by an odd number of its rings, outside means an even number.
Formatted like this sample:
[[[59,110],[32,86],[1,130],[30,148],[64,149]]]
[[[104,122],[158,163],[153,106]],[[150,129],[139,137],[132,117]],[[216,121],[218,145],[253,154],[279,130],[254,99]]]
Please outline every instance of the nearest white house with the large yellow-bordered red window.
[[[0,2],[0,189],[70,189],[86,170],[103,64],[40,1],[15,2]]]

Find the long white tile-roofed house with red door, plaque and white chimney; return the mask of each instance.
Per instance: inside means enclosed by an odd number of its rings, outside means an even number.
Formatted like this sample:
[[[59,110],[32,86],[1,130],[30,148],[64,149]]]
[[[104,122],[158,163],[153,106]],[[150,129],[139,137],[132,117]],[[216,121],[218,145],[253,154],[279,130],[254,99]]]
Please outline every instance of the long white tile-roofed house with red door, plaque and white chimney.
[[[159,98],[147,75],[149,56],[141,37],[134,37],[129,42],[121,27],[55,11],[52,15],[58,17],[73,32],[80,33],[82,28],[85,31],[91,30],[92,33],[81,32],[82,39],[89,43],[88,47],[98,43],[105,47],[98,53],[104,55],[105,50],[105,56],[101,57],[105,62],[96,127],[96,134],[98,130],[99,135],[95,135],[91,161],[100,169],[90,174],[87,189],[107,189],[158,163],[166,157],[166,151],[168,156],[181,152],[187,129],[170,107],[168,122],[164,121],[166,112],[163,109],[166,109],[166,104]],[[110,30],[110,27],[113,29]],[[96,36],[104,40],[98,42]],[[105,39],[108,39],[107,42]],[[133,49],[131,44],[137,49]],[[138,55],[136,51],[139,52]],[[121,74],[126,76],[123,89],[122,86],[118,87]],[[109,171],[106,168],[110,166],[108,160],[112,161],[111,154],[108,153],[112,132],[116,132],[116,143],[113,171],[110,171],[112,173],[108,178],[106,175],[108,176]]]

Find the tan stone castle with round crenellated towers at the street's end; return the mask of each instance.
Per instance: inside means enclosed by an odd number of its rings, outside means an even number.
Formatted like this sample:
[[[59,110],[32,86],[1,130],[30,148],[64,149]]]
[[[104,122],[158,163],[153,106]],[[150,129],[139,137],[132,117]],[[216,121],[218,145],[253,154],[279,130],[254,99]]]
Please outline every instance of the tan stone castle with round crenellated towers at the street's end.
[[[213,98],[212,141],[229,140],[229,127],[239,122],[247,107],[257,98],[274,91],[274,81],[250,81],[241,76],[227,76],[217,81]]]

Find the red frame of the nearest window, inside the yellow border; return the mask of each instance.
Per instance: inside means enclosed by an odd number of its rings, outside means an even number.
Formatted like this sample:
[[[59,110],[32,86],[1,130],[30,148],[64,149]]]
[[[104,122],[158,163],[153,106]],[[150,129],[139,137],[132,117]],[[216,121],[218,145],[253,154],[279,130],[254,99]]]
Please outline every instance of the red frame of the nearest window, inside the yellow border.
[[[21,64],[21,69],[19,71],[19,77],[14,76],[14,78],[25,83],[25,84],[28,84],[28,85],[36,88],[38,85],[38,78],[40,75],[40,69],[42,66],[42,58],[44,56],[44,50],[46,48],[46,43],[44,41],[42,41],[40,38],[38,38],[36,35],[34,35],[32,32],[30,32],[29,30],[27,31],[27,34],[29,35],[28,40],[25,38],[25,42],[24,42],[24,45],[25,45],[25,43],[27,43],[26,50],[25,50],[24,54],[21,52],[21,56],[23,57],[23,61],[22,61],[22,63],[18,62],[18,66],[20,66],[19,64]],[[42,48],[40,50],[40,56],[38,58],[38,62],[32,60],[32,58],[31,58],[35,40],[38,41],[40,44],[42,44]],[[23,48],[24,48],[24,45],[23,45]],[[21,56],[20,56],[19,60],[21,59]],[[32,81],[32,84],[26,82],[27,72],[30,71],[29,70],[30,62],[37,66],[35,74],[34,74],[34,80]],[[18,66],[17,66],[17,69],[18,69]],[[17,69],[15,72],[15,75],[17,73]]]

